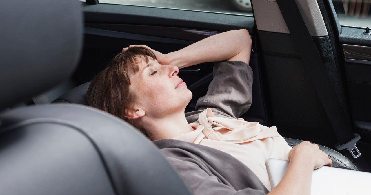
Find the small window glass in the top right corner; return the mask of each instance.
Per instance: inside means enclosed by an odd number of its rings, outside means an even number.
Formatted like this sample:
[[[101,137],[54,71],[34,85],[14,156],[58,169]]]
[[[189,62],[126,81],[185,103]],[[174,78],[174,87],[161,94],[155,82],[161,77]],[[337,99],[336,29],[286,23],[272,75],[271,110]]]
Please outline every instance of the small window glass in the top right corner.
[[[342,26],[371,27],[371,0],[332,0]]]

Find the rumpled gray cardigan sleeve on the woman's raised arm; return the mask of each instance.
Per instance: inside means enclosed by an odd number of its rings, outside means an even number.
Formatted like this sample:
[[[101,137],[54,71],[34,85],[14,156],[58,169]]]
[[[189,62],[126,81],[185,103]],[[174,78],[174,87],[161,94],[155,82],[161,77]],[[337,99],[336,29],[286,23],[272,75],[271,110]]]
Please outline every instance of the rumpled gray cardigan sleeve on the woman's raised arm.
[[[253,71],[245,62],[214,62],[213,80],[207,94],[197,100],[196,110],[215,108],[238,118],[251,106],[252,84]]]

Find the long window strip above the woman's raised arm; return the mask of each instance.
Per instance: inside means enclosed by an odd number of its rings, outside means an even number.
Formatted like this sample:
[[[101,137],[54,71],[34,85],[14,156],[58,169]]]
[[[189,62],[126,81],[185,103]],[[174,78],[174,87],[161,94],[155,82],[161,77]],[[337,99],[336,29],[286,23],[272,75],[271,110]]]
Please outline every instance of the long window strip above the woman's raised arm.
[[[250,0],[99,0],[99,3],[253,15]]]

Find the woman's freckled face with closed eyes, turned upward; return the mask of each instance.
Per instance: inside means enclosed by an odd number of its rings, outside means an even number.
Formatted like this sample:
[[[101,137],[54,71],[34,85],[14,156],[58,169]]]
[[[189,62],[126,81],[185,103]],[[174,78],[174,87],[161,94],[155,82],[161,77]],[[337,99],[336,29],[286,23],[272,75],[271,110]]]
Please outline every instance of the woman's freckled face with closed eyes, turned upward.
[[[137,96],[136,107],[154,118],[184,111],[192,93],[178,77],[178,67],[161,64],[149,56],[148,60],[147,64],[144,57],[138,57],[139,71],[130,77],[130,90]]]

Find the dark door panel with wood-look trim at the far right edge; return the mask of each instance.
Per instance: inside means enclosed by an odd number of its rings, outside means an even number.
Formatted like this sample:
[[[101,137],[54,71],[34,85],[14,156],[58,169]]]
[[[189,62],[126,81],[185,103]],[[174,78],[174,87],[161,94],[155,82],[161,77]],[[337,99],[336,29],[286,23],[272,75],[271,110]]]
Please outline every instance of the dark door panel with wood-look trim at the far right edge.
[[[363,31],[354,30],[357,37],[344,40],[339,36],[339,40],[348,43],[342,48],[354,129],[362,141],[371,142],[371,125],[367,125],[371,123],[371,36],[363,35]]]

